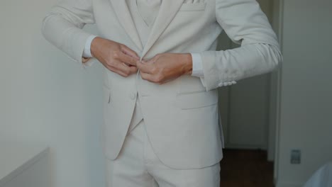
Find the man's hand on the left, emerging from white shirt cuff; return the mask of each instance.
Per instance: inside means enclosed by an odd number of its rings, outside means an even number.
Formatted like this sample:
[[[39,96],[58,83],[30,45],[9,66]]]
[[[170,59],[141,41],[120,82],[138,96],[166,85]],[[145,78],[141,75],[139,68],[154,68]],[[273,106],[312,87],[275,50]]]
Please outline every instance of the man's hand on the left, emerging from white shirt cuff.
[[[107,69],[123,77],[138,71],[136,62],[140,57],[126,45],[96,37],[91,43],[91,54]]]

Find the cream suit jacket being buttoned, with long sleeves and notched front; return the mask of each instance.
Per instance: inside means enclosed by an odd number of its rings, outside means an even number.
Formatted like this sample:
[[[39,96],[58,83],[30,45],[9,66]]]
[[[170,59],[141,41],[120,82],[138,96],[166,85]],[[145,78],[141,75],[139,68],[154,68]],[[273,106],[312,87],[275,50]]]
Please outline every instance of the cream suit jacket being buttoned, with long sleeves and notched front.
[[[216,164],[223,157],[216,88],[269,72],[281,60],[276,35],[254,0],[164,0],[145,46],[124,0],[61,1],[42,30],[81,63],[90,35],[81,28],[87,23],[96,23],[101,37],[127,45],[142,59],[162,52],[198,52],[203,62],[204,79],[184,75],[162,85],[139,73],[125,78],[105,69],[102,142],[109,159],[116,159],[122,147],[138,93],[150,143],[162,163],[175,169]],[[242,47],[216,51],[222,30]],[[245,46],[255,43],[271,50],[256,50],[248,58],[253,51]]]

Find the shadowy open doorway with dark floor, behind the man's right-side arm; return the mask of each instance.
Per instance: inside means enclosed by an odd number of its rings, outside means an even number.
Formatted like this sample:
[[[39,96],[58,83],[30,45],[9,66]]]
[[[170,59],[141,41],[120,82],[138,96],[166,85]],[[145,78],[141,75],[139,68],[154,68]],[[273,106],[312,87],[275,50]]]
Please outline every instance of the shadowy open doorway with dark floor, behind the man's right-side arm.
[[[280,0],[257,1],[279,35]],[[238,47],[226,33],[218,41],[218,50]],[[219,88],[226,147],[221,186],[273,186],[278,74],[262,74]]]

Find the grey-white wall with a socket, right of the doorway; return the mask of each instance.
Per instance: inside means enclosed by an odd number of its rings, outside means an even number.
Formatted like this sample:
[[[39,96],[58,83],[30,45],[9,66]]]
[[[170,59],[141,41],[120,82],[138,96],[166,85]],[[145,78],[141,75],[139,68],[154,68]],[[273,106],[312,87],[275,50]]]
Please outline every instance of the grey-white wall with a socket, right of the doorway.
[[[332,161],[332,1],[284,1],[277,187],[301,186]],[[301,149],[301,164],[289,164]]]

